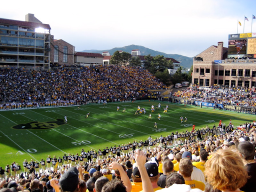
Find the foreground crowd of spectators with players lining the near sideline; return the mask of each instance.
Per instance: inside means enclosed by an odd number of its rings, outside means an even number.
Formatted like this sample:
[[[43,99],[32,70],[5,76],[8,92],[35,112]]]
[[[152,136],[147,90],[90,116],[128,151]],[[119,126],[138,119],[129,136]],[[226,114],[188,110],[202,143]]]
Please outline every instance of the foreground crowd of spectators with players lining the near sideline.
[[[181,135],[184,135],[183,137]],[[0,191],[254,191],[256,122],[0,167]]]

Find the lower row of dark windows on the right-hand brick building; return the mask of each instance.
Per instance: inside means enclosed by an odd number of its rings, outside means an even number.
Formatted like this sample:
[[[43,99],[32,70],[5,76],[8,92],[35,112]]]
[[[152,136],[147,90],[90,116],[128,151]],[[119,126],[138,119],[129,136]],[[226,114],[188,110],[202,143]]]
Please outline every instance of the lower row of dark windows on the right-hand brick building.
[[[244,84],[242,84],[242,82],[244,82]],[[209,79],[199,79],[198,82],[198,78],[194,78],[194,83],[195,84],[199,84],[199,86],[209,86]],[[231,86],[247,86],[249,87],[250,81],[248,80],[237,80],[237,84],[235,80],[223,80],[223,79],[214,79],[214,84],[224,84],[224,85],[231,85]],[[251,81],[251,86],[256,86],[256,81]]]

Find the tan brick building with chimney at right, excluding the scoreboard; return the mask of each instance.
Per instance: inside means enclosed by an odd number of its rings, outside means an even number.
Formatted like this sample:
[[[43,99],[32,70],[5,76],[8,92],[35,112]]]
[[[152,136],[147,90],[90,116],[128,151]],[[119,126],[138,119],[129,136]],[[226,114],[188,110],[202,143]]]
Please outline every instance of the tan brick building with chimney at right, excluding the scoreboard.
[[[227,59],[223,42],[212,45],[193,60],[192,83],[251,87],[256,85],[256,59]]]

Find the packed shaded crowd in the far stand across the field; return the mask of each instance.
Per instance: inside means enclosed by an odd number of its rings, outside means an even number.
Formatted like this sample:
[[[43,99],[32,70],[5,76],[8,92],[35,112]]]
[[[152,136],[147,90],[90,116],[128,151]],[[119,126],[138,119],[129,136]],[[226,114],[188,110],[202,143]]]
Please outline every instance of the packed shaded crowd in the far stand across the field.
[[[148,70],[107,65],[54,70],[0,68],[1,109],[148,96],[166,86]],[[12,104],[11,104],[12,103]]]

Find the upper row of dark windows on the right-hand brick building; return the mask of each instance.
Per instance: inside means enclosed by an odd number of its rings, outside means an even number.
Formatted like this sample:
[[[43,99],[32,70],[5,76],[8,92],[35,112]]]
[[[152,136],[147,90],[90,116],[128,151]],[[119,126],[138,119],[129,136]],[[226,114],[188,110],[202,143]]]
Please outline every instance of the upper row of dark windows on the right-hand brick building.
[[[244,73],[243,73],[244,71]],[[199,72],[199,68],[195,68],[195,72]],[[205,73],[209,73],[210,69],[209,68],[205,68]],[[237,73],[236,73],[237,72]],[[215,76],[223,76],[225,74],[225,76],[250,76],[250,69],[231,69],[231,70],[215,70],[214,71],[214,75]],[[200,68],[200,75],[204,75],[204,68]],[[254,77],[256,76],[256,71],[252,70],[251,76]]]

